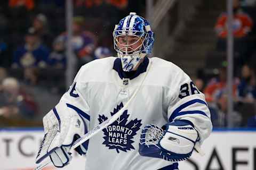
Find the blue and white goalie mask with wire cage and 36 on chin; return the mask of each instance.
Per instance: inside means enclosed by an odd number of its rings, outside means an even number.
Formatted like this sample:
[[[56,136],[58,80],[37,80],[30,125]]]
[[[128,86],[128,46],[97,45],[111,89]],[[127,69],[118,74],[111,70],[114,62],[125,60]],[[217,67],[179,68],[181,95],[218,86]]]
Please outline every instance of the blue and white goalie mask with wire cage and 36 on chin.
[[[134,70],[153,48],[154,32],[148,21],[133,12],[115,26],[113,37],[114,48],[126,72]]]

